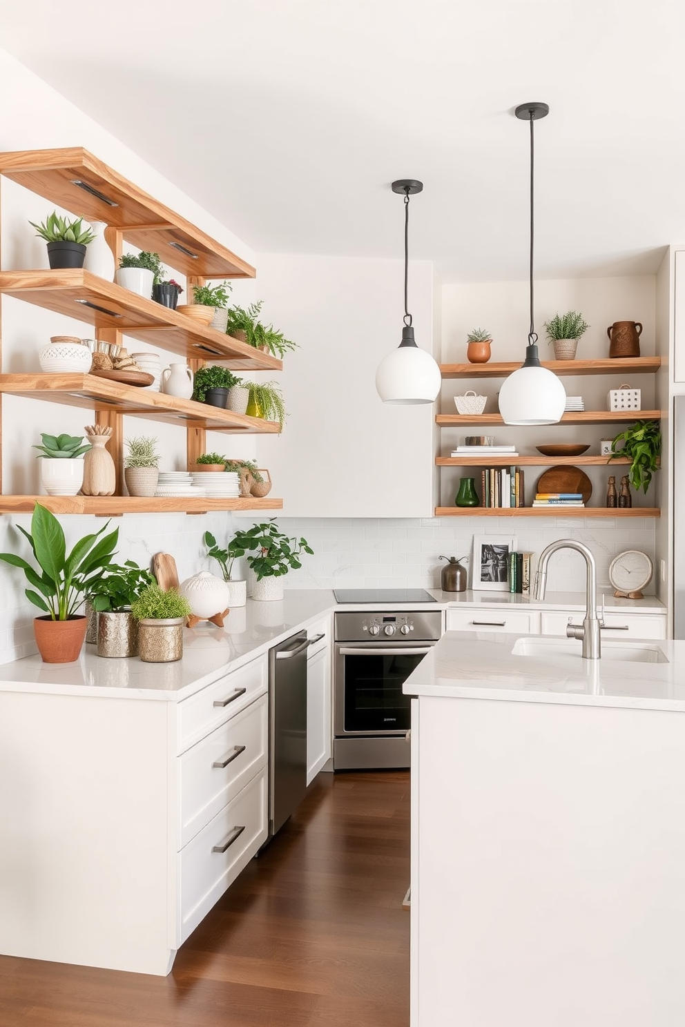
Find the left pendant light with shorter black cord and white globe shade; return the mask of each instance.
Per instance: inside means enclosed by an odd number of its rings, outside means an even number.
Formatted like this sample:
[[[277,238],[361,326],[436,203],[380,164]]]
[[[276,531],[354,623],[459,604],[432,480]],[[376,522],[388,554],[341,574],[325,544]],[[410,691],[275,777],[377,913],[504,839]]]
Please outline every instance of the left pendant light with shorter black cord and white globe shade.
[[[432,403],[440,392],[440,368],[430,353],[416,345],[412,315],[407,309],[409,197],[422,189],[423,183],[414,179],[399,179],[392,183],[392,192],[405,194],[405,327],[398,347],[383,357],[376,372],[376,388],[383,403]]]

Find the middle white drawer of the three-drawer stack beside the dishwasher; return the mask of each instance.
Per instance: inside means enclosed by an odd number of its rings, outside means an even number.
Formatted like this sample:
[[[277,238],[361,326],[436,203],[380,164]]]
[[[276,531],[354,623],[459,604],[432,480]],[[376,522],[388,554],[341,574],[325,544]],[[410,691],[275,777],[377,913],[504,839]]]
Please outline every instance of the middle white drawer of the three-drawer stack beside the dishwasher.
[[[266,766],[267,738],[268,699],[262,695],[179,757],[179,849]]]

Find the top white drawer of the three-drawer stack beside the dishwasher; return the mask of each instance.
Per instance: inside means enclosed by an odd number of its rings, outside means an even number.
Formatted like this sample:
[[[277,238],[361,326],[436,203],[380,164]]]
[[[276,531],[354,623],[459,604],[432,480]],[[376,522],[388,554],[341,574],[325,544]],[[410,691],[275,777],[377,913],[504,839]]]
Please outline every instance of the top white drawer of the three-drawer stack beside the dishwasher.
[[[268,680],[266,653],[239,671],[233,671],[207,685],[201,692],[179,703],[179,752],[199,741],[210,731],[234,717],[240,710],[266,692]]]

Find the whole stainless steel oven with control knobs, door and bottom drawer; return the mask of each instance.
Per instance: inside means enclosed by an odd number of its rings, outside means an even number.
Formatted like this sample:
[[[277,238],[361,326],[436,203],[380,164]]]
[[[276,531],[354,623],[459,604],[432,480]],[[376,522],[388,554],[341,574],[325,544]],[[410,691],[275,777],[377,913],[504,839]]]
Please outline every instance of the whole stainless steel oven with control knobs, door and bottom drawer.
[[[335,770],[408,767],[403,685],[441,636],[439,610],[335,614]]]

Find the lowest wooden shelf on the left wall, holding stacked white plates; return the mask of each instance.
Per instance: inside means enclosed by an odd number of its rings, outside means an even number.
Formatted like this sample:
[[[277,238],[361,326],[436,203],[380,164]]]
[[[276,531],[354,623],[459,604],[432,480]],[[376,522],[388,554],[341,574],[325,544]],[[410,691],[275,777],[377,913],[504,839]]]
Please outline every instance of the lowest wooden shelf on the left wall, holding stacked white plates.
[[[190,499],[187,496],[0,496],[3,514],[31,514],[36,503],[52,514],[92,514],[120,517],[122,514],[207,514],[214,510],[279,510],[282,499]]]

